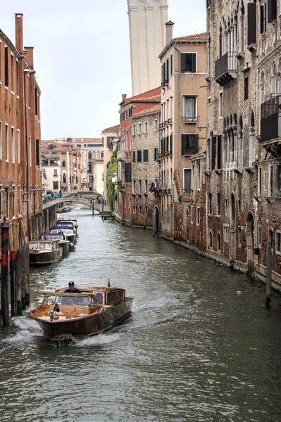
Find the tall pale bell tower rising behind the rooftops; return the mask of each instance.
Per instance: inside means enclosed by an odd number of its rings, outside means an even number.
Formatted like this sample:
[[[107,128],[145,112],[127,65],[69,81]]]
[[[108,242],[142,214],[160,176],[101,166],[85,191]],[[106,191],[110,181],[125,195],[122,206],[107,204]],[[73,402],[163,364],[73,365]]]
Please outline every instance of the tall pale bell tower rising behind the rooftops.
[[[160,87],[158,55],[166,46],[167,0],[127,0],[132,96]]]

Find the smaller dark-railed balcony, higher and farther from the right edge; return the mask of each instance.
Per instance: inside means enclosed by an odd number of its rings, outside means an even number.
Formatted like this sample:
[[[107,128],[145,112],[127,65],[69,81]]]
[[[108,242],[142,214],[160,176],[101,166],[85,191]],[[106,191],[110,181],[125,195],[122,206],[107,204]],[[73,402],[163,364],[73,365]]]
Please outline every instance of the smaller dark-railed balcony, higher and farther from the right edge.
[[[220,87],[237,78],[237,51],[228,51],[215,63],[215,78]]]

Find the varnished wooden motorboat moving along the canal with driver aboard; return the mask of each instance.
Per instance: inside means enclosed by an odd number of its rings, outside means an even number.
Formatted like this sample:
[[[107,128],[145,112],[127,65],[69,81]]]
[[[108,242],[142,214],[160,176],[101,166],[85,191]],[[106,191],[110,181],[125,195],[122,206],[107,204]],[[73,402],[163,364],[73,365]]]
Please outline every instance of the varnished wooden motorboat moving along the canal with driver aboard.
[[[123,288],[80,287],[81,293],[65,293],[65,289],[44,293],[42,304],[28,314],[46,338],[103,333],[131,314],[132,298]]]

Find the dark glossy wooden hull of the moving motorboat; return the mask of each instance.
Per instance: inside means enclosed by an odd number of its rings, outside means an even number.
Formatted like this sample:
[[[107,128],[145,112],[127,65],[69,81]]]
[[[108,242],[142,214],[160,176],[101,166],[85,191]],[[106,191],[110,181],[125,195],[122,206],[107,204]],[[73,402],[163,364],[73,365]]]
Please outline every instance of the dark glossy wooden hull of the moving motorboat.
[[[76,335],[95,335],[102,333],[115,325],[120,324],[132,309],[132,298],[114,307],[108,307],[98,314],[89,314],[77,319],[64,319],[63,321],[42,321],[36,316],[36,309],[29,313],[42,328],[44,336],[51,339],[62,339]]]

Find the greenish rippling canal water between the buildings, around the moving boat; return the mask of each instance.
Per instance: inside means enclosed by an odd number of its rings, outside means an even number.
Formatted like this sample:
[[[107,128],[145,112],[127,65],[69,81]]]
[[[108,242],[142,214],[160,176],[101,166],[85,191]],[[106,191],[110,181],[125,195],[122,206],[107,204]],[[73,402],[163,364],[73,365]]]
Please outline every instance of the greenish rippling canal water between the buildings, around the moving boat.
[[[1,422],[280,422],[281,298],[151,231],[87,210],[75,251],[32,270],[43,290],[126,288],[133,314],[112,331],[44,340],[27,314],[0,334]]]

